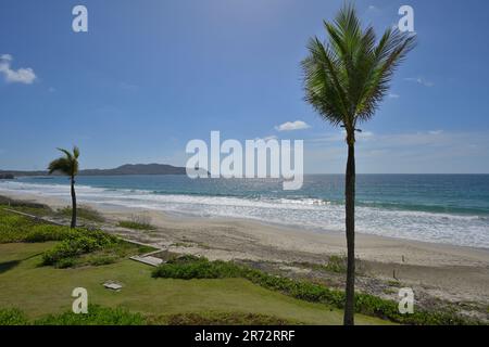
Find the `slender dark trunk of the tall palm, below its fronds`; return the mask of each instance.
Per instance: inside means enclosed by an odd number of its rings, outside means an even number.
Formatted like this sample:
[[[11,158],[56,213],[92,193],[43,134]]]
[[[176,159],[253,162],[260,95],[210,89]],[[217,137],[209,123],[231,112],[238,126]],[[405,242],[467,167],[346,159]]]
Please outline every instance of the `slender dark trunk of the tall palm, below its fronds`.
[[[344,303],[344,325],[354,324],[355,306],[355,146],[354,140],[348,143],[348,163],[346,178],[346,224],[347,224],[347,290]]]

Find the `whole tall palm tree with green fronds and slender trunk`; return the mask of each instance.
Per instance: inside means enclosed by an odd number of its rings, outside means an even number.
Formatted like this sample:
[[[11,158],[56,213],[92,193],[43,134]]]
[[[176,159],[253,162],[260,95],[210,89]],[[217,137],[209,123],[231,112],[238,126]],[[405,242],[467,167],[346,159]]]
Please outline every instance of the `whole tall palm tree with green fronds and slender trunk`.
[[[333,23],[324,23],[328,41],[310,40],[302,61],[305,101],[333,126],[346,130],[347,285],[344,324],[354,324],[355,279],[355,132],[371,119],[389,89],[394,69],[415,46],[415,37],[387,29],[377,41],[372,26],[362,28],[353,5],[346,4]]]

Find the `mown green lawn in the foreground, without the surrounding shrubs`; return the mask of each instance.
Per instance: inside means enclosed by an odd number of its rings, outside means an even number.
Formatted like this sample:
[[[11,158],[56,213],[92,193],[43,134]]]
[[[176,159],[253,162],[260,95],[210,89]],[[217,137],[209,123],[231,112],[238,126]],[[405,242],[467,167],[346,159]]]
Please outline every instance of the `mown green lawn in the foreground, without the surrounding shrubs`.
[[[275,316],[309,324],[341,324],[342,312],[267,291],[243,279],[168,280],[151,278],[152,268],[133,260],[100,267],[55,269],[39,267],[48,243],[0,244],[0,308],[15,307],[29,318],[70,310],[74,287],[88,290],[89,303],[122,306],[146,316],[243,312]],[[102,286],[123,283],[121,292]],[[389,322],[356,316],[358,324]]]

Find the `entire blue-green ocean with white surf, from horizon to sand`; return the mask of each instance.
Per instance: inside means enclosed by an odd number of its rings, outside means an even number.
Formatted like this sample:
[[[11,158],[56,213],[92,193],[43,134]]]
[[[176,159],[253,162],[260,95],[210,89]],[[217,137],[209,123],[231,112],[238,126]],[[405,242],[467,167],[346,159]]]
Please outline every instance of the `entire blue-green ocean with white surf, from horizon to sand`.
[[[344,230],[341,175],[304,177],[300,191],[275,179],[198,179],[186,176],[78,177],[79,202],[202,217],[236,217],[308,228]],[[0,181],[14,191],[63,198],[65,177]],[[489,248],[489,175],[359,175],[356,231]]]

